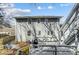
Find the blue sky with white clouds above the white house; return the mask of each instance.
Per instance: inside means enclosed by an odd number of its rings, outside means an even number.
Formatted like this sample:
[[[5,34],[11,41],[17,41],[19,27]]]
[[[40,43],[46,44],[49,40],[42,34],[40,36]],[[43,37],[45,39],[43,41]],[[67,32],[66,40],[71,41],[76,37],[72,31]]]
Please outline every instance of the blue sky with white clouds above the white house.
[[[7,5],[12,7],[5,9],[6,14],[10,16],[62,16],[60,23],[65,22],[74,6],[72,3],[11,3],[0,5],[3,5],[4,8]]]

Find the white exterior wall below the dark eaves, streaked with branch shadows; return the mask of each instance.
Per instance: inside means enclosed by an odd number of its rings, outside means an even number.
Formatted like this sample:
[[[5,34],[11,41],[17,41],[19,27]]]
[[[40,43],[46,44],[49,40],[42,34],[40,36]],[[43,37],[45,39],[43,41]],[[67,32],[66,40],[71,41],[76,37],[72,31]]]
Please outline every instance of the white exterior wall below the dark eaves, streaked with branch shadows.
[[[54,19],[52,19],[54,20]],[[54,35],[51,35],[50,30],[47,28],[51,25],[51,29],[53,31],[53,34],[55,33],[55,36],[58,39],[58,30],[57,27],[59,26],[59,22],[48,22],[46,24],[46,26],[44,25],[45,22],[31,22],[31,24],[29,24],[28,22],[16,22],[16,39],[17,41],[21,42],[21,41],[27,41],[27,40],[34,40],[35,36],[33,36],[34,33],[34,29],[33,26],[35,28],[35,32],[36,32],[36,37],[38,38],[38,40],[42,40],[42,41],[54,41],[56,40],[56,38],[51,38]],[[27,35],[27,31],[31,30],[31,36]],[[39,31],[41,31],[40,35],[39,35]],[[48,31],[50,32],[48,35]],[[46,37],[46,38],[45,38]]]

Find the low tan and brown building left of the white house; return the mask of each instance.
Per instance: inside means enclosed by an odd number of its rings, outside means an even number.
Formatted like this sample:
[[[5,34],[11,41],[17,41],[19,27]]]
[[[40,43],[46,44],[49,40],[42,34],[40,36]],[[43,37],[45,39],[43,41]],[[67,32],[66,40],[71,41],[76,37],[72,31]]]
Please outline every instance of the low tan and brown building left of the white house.
[[[8,43],[15,43],[15,28],[0,28],[0,49]]]

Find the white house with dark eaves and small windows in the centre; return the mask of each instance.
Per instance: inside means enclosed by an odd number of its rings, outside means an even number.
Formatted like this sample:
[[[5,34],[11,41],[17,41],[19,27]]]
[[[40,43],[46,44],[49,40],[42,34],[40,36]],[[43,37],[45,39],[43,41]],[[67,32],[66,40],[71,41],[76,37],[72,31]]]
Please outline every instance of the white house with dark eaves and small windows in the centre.
[[[18,42],[38,39],[43,42],[58,42],[61,16],[20,16],[16,19]]]

